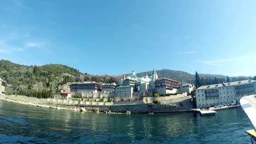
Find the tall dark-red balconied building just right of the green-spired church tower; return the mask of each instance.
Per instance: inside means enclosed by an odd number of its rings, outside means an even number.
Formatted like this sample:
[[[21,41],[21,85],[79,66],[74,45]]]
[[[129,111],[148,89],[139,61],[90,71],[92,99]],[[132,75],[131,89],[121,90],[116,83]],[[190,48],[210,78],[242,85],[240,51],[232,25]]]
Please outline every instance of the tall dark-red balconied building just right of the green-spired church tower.
[[[179,82],[167,78],[158,79],[155,81],[155,88],[159,94],[176,93],[179,87]]]

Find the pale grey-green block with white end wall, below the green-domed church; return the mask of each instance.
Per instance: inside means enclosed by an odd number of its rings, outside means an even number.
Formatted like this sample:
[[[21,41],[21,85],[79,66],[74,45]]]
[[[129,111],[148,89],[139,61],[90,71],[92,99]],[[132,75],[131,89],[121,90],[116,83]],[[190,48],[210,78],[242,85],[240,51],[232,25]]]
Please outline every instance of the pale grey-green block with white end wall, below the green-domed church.
[[[132,86],[119,86],[115,88],[115,97],[132,97]]]

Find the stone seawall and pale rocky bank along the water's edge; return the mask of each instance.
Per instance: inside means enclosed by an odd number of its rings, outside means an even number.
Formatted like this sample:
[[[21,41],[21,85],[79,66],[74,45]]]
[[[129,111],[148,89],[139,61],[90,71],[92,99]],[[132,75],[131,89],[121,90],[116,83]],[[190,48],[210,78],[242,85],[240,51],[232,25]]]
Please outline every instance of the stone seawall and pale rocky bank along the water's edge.
[[[79,103],[80,101],[75,101],[74,103],[62,103],[60,99],[49,100],[49,99],[38,99],[32,97],[26,97],[22,95],[0,95],[1,100],[10,101],[12,103],[33,105],[54,109],[63,110],[80,110],[80,107],[87,108],[97,108],[99,112],[111,111],[111,112],[121,112],[125,113],[130,111],[131,113],[162,113],[162,112],[183,112],[190,111],[188,107],[181,106],[171,106],[171,105],[160,105],[160,104],[120,104],[120,105],[106,105],[102,103],[99,105],[95,103]],[[60,103],[61,102],[61,103]]]

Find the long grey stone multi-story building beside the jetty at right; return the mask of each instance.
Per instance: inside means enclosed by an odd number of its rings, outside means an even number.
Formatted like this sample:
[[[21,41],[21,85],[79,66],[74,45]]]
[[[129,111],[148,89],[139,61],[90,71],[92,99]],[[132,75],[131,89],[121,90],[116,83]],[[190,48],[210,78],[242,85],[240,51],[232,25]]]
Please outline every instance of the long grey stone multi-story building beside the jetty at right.
[[[244,80],[217,85],[201,86],[196,89],[196,106],[212,106],[222,103],[231,103],[245,95],[256,94],[256,81]]]

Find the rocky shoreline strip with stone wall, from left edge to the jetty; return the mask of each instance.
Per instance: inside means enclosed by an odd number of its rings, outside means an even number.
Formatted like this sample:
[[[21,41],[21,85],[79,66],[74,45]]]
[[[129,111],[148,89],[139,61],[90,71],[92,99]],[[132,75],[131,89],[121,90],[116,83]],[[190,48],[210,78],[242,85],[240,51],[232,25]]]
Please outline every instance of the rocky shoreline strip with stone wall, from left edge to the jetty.
[[[180,113],[191,112],[188,107],[160,105],[160,104],[137,104],[137,105],[81,105],[81,104],[63,104],[53,103],[48,99],[38,99],[26,97],[24,95],[3,95],[0,94],[0,100],[10,103],[38,106],[57,110],[72,110],[81,112],[97,112],[97,113],[118,113],[118,114],[154,114],[154,113]]]

